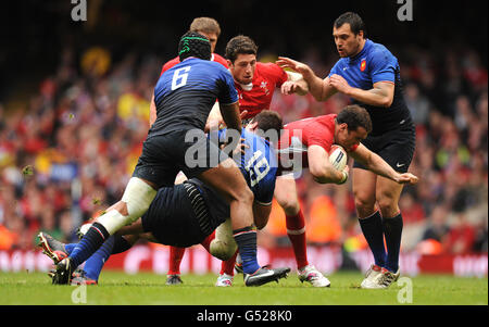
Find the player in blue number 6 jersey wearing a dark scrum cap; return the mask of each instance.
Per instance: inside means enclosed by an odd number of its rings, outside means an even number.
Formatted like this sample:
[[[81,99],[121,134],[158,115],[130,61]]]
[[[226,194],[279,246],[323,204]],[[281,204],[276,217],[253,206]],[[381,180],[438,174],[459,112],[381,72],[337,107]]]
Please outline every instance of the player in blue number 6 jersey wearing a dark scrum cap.
[[[199,33],[188,32],[180,38],[178,55],[180,63],[163,73],[154,88],[156,121],[121,201],[98,217],[70,256],[57,264],[54,284],[68,284],[76,267],[111,235],[147,212],[158,189],[173,186],[179,171],[188,178],[199,177],[229,203],[235,240],[239,254],[246,257],[246,273],[265,280],[279,273],[258,264],[253,193],[239,167],[203,134],[209,112],[218,100],[229,135],[234,130],[239,136],[241,121],[233,76],[223,65],[210,61],[211,43]],[[189,150],[198,150],[203,164],[189,166]],[[216,165],[211,165],[215,159]]]

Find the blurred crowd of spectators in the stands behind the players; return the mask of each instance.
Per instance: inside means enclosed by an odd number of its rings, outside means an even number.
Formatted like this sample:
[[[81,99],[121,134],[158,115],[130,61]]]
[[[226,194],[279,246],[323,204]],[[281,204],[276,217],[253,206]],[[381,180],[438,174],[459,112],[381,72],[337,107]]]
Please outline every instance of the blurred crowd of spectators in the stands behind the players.
[[[174,34],[175,45],[179,35]],[[222,37],[221,47],[226,41]],[[437,51],[385,43],[400,61],[416,124],[410,172],[421,180],[405,187],[400,200],[402,248],[425,254],[487,252],[487,61],[472,45],[436,43]],[[261,61],[287,55],[259,46]],[[324,55],[321,47],[304,47],[294,59],[325,77],[338,58]],[[0,249],[32,249],[39,230],[75,241],[79,224],[121,198],[148,133],[153,87],[162,64],[174,56],[67,45],[22,108],[8,111],[0,101]],[[341,95],[319,103],[276,90],[271,110],[288,123],[337,113],[348,103]],[[351,181],[318,185],[304,172],[298,189],[311,244],[366,248]],[[259,242],[289,244],[276,202]]]

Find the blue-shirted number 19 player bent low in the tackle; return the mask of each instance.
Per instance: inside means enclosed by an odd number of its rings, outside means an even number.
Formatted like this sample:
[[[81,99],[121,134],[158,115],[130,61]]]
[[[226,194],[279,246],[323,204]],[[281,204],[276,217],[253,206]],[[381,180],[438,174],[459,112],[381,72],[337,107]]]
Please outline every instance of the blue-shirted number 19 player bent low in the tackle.
[[[279,114],[263,111],[242,130],[243,153],[234,156],[254,194],[253,214],[259,229],[263,228],[268,221],[278,168],[276,152],[260,134],[263,130],[264,135],[275,133],[278,136],[281,128]],[[222,143],[225,130],[220,130],[218,134],[215,136],[215,141]],[[213,140],[212,136],[210,138]],[[110,237],[87,260],[84,269],[75,274],[72,285],[97,284],[109,256],[129,249],[139,238],[177,247],[202,243],[215,256],[227,260],[236,251],[234,239],[227,239],[227,243],[214,247],[220,251],[217,253],[213,250],[212,238],[209,241],[206,239],[217,226],[227,223],[228,217],[229,204],[218,192],[199,178],[191,178],[173,187],[160,188],[154,201],[142,217],[130,226],[122,227],[116,235]],[[39,234],[39,246],[54,263],[67,256],[76,247],[74,243],[63,244],[45,232]],[[275,269],[269,278],[246,274],[244,284],[260,286],[285,277],[289,271],[289,268]]]

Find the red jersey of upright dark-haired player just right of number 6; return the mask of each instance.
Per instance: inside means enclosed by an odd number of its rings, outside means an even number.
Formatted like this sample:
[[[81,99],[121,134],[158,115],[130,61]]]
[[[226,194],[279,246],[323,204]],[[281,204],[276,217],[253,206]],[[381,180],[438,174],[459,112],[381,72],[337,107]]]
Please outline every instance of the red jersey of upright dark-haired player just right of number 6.
[[[248,111],[243,120],[258,115],[262,110],[269,109],[272,97],[277,87],[287,81],[287,73],[275,63],[256,62],[251,90],[235,80],[239,96],[239,110]]]

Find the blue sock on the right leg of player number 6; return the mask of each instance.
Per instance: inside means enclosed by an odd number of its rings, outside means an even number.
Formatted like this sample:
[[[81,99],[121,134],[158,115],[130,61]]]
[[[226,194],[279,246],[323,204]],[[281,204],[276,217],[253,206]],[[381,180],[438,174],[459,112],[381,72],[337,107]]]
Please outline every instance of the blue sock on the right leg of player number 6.
[[[256,260],[256,229],[253,226],[244,227],[233,230],[233,236],[242,260],[242,271],[250,275],[255,273],[261,268]]]

